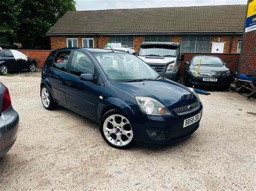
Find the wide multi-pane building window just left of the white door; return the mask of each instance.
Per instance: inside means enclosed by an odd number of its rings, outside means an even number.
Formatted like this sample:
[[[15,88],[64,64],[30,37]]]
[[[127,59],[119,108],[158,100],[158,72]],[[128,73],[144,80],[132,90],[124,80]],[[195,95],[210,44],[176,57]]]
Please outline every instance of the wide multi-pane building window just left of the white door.
[[[184,35],[181,38],[181,52],[210,52],[210,35]]]

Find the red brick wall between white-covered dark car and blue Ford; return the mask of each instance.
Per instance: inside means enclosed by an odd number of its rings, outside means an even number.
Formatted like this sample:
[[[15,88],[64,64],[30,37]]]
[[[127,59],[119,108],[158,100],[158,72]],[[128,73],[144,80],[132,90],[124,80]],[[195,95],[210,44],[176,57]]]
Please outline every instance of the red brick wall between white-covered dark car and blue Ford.
[[[44,66],[44,62],[47,59],[48,55],[51,53],[51,51],[41,51],[41,50],[19,50],[19,52],[22,52],[23,54],[26,54],[32,59],[36,59],[37,61],[37,67],[39,69],[42,69]]]

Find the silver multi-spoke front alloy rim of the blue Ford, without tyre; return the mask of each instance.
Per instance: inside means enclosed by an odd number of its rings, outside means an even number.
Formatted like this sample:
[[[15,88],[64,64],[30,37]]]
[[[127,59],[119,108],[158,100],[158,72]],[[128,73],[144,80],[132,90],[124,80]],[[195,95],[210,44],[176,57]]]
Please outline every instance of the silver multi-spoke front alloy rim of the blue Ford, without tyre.
[[[111,115],[103,124],[104,135],[110,143],[125,146],[132,141],[133,131],[128,119],[122,115]]]

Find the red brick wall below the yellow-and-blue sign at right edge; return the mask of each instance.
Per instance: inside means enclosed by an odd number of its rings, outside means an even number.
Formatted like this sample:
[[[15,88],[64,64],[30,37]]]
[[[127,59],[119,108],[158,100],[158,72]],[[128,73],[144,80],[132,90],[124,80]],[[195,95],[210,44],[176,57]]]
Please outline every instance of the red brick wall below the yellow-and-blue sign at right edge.
[[[256,31],[244,34],[241,56],[239,60],[239,73],[256,75]]]

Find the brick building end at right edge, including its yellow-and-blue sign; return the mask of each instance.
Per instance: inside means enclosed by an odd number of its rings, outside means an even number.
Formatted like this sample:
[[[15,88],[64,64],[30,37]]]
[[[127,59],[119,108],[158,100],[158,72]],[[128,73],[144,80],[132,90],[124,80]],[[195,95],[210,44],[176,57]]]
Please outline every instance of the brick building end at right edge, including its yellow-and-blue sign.
[[[248,1],[239,73],[256,75],[256,0]]]

